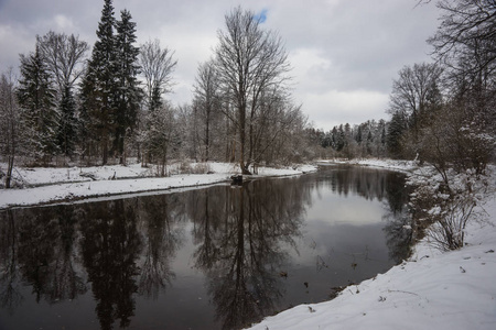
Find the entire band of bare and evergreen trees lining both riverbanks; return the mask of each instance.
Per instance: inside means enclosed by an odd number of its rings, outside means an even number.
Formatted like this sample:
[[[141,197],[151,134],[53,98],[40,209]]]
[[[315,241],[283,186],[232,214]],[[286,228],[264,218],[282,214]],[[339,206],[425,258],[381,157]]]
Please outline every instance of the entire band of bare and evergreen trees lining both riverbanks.
[[[316,158],[390,157],[484,173],[496,146],[496,3],[443,0],[427,41],[431,63],[392,78],[389,120],[316,129],[291,96],[284,41],[241,7],[226,13],[209,61],[197,67],[193,99],[173,106],[177,58],[158,40],[137,44],[129,11],[104,1],[93,45],[48,31],[20,55],[20,76],[0,78],[0,152],[11,187],[14,165],[158,166],[230,162],[258,165]]]

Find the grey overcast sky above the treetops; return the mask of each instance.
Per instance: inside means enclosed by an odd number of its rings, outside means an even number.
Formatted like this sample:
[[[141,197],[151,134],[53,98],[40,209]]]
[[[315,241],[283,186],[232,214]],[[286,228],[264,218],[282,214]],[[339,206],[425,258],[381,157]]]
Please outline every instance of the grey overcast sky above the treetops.
[[[128,9],[138,43],[160,40],[175,51],[174,103],[190,102],[196,69],[207,61],[234,7],[263,14],[263,29],[285,42],[293,99],[315,128],[388,119],[392,79],[405,65],[431,62],[425,40],[439,11],[419,0],[114,0]],[[91,46],[104,0],[0,0],[0,72],[34,51],[50,30],[78,34]],[[89,55],[89,53],[88,53]]]

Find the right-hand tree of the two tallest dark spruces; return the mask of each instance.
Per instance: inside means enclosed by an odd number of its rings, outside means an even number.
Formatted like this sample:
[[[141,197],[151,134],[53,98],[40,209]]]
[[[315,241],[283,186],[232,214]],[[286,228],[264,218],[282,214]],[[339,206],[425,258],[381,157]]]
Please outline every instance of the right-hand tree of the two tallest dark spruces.
[[[141,89],[137,76],[139,74],[139,48],[136,42],[136,23],[131,13],[121,12],[121,21],[117,22],[117,108],[115,113],[114,148],[123,163],[125,135],[128,130],[136,129],[138,110],[141,101]]]

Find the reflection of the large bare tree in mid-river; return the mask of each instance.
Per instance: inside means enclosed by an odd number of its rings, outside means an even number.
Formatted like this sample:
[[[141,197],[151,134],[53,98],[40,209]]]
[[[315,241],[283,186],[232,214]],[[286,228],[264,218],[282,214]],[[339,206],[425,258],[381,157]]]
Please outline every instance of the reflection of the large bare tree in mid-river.
[[[197,210],[192,215],[196,266],[209,278],[224,329],[239,329],[277,310],[281,266],[289,257],[283,248],[300,235],[309,200],[301,187],[283,180],[218,187],[215,194],[198,191],[191,198],[204,206],[188,207]]]

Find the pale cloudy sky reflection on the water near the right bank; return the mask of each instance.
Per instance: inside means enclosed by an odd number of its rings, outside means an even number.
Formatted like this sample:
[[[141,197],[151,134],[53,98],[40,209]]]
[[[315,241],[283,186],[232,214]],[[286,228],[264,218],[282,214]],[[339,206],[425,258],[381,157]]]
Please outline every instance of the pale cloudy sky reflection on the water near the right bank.
[[[291,255],[285,304],[326,300],[332,287],[359,283],[391,267],[384,204],[355,194],[349,189],[339,195],[330,185],[312,190],[303,235],[295,240],[298,253],[285,246]]]

